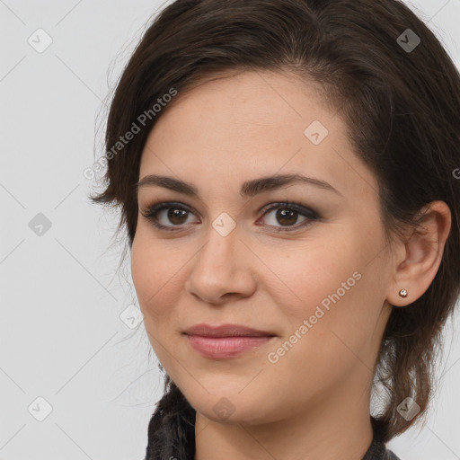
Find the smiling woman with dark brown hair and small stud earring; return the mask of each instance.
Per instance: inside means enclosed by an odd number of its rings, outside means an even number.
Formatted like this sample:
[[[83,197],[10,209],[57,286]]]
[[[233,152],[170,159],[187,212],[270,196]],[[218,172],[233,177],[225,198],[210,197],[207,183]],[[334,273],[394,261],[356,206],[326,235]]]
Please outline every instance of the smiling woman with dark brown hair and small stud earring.
[[[146,460],[398,458],[459,294],[459,109],[456,67],[399,1],[155,18],[93,197],[121,209],[166,372]]]

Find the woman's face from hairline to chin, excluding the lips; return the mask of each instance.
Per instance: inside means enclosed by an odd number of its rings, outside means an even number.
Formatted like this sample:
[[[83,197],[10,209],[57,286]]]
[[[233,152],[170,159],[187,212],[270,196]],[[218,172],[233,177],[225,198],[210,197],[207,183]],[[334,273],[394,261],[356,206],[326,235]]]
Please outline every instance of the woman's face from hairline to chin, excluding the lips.
[[[246,72],[177,98],[147,139],[139,180],[167,176],[197,195],[144,181],[131,254],[165,371],[211,420],[337,416],[344,405],[368,414],[393,272],[376,180],[344,123],[290,75]],[[314,181],[261,181],[290,174]],[[143,215],[157,202],[169,203],[155,214],[167,229]],[[198,323],[273,337],[207,356],[184,334]]]

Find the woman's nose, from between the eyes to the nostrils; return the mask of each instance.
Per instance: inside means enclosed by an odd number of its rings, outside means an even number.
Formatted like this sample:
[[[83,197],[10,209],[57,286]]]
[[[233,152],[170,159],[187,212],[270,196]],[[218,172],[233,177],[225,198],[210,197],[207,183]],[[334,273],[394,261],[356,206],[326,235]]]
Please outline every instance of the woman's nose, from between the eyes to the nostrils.
[[[238,226],[229,234],[209,226],[207,236],[207,242],[191,260],[186,290],[213,305],[224,304],[232,297],[251,296],[256,287],[253,269],[257,258],[243,242]]]

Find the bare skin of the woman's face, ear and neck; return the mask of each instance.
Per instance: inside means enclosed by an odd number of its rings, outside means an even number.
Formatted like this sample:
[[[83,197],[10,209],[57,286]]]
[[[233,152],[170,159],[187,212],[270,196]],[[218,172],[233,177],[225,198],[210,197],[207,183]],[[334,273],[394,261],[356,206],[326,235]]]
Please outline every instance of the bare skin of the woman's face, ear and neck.
[[[319,145],[304,134],[314,120],[329,131]],[[195,458],[361,459],[372,441],[370,391],[385,324],[434,279],[447,205],[430,204],[424,234],[388,245],[376,178],[354,155],[344,122],[314,84],[285,73],[244,72],[179,94],[146,141],[139,179],[154,173],[189,181],[201,196],[140,188],[131,252],[149,340],[197,411]],[[340,193],[295,183],[240,195],[243,181],[275,173],[303,173]],[[179,230],[144,217],[154,199],[190,208],[181,220],[157,215]],[[260,211],[284,200],[320,218],[302,227],[301,214],[288,221],[276,208]],[[212,226],[223,212],[236,224],[226,236]],[[297,229],[273,229],[289,226]],[[270,362],[355,272],[354,285]],[[401,288],[409,296],[398,296]],[[181,333],[196,323],[239,323],[276,337],[236,358],[203,358]],[[214,410],[222,398],[229,417]]]

